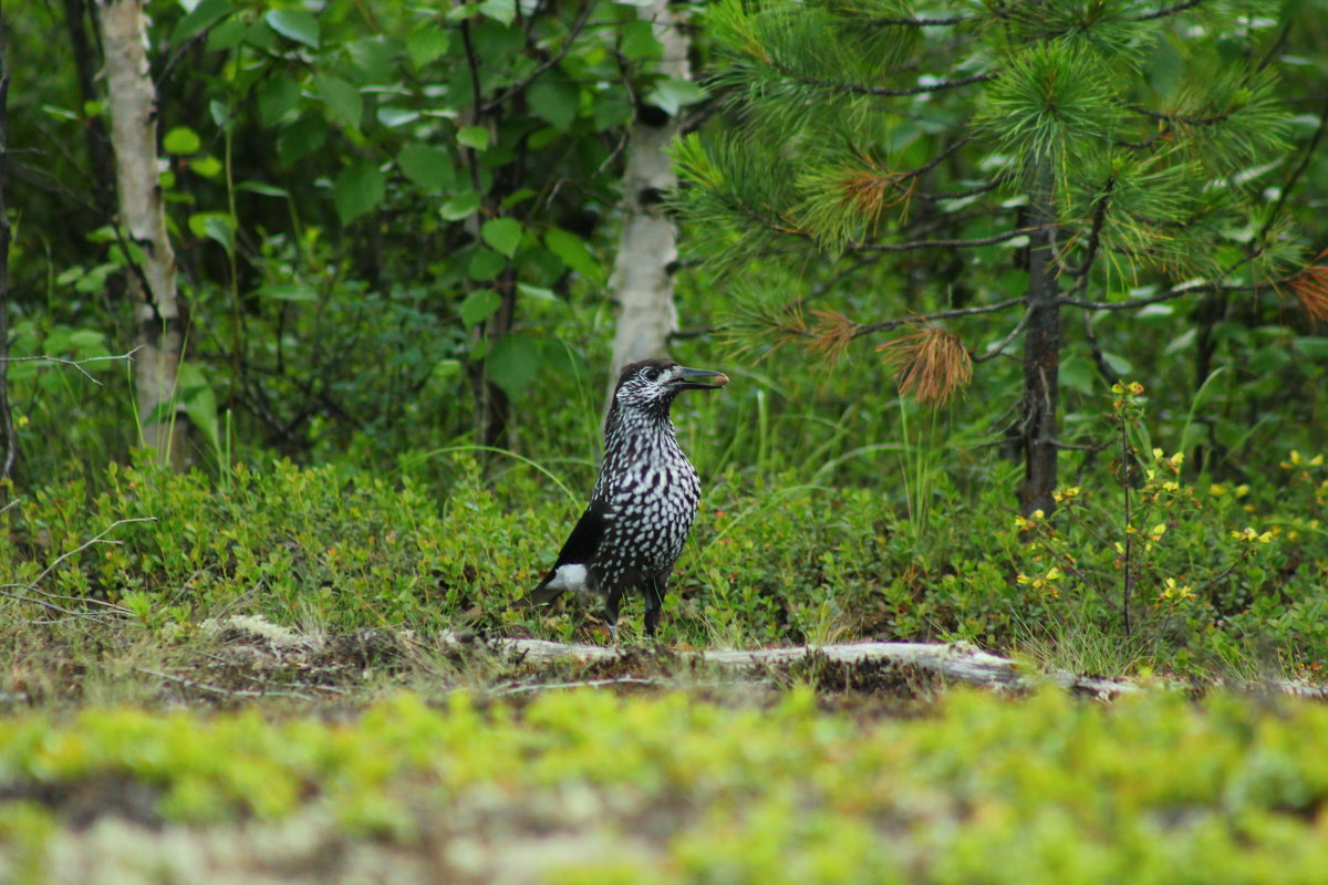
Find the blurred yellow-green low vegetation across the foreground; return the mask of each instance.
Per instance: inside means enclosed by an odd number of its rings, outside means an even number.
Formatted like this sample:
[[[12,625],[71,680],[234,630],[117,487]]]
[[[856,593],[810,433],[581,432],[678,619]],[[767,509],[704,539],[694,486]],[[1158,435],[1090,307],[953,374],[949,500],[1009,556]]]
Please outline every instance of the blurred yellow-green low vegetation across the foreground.
[[[131,783],[150,821],[305,815],[405,852],[580,835],[575,861],[540,857],[552,882],[1311,882],[1328,762],[1304,748],[1323,740],[1316,703],[1058,691],[960,691],[900,719],[827,714],[805,689],[773,706],[568,691],[521,710],[408,694],[344,722],[28,714],[0,720],[0,844],[41,870],[52,816],[25,792]]]

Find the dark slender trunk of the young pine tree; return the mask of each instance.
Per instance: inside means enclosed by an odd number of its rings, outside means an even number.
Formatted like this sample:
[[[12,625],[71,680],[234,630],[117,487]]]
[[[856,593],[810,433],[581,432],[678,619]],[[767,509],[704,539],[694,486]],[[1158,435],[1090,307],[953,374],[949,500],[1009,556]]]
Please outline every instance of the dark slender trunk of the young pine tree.
[[[1024,332],[1024,484],[1019,510],[1050,513],[1056,508],[1057,427],[1060,399],[1061,305],[1056,279],[1056,196],[1050,166],[1041,161],[1033,172],[1029,204],[1028,328]]]

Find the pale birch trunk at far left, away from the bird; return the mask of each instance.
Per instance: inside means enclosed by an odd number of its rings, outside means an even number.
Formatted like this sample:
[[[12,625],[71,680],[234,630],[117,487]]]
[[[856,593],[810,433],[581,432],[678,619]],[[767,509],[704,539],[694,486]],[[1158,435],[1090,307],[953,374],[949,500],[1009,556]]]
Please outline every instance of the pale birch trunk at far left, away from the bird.
[[[158,182],[157,96],[147,66],[143,0],[97,0],[97,13],[116,154],[118,222],[129,244],[141,253],[130,264],[129,292],[138,326],[134,389],[143,444],[155,448],[162,463],[183,470],[186,421],[170,403],[178,398],[185,324]]]

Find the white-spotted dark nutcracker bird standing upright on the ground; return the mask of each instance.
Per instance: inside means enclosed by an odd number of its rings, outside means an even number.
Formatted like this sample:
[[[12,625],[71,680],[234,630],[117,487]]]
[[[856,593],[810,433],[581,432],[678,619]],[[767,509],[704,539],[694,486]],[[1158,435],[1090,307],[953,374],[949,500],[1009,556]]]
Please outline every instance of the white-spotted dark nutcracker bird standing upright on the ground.
[[[604,426],[604,464],[590,504],[544,580],[518,605],[547,605],[564,590],[604,594],[618,636],[627,590],[645,597],[645,634],[655,636],[673,564],[696,516],[701,483],[677,444],[669,406],[683,390],[713,390],[728,377],[644,360],[623,369]]]

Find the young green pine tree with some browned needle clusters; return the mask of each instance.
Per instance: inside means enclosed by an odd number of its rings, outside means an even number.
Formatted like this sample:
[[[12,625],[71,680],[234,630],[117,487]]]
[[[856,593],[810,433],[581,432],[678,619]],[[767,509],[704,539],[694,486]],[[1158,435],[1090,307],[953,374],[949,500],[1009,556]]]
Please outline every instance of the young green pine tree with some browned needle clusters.
[[[676,206],[734,285],[737,271],[799,272],[813,256],[926,256],[923,284],[883,296],[883,318],[819,306],[809,320],[803,300],[757,292],[742,303],[748,333],[833,356],[903,329],[879,349],[903,393],[930,399],[1021,341],[1008,435],[1025,466],[1021,511],[1049,513],[1070,310],[1114,382],[1086,321],[1096,312],[1278,283],[1307,291],[1308,277],[1288,276],[1307,244],[1288,230],[1284,199],[1266,194],[1288,184],[1271,162],[1288,138],[1270,64],[1278,4],[936,5],[716,4],[708,21],[725,54],[710,86],[737,122],[679,143]],[[956,260],[965,255],[1021,272],[975,291],[973,263]],[[1159,285],[1139,295],[1145,281]],[[963,344],[975,325],[992,340]]]

